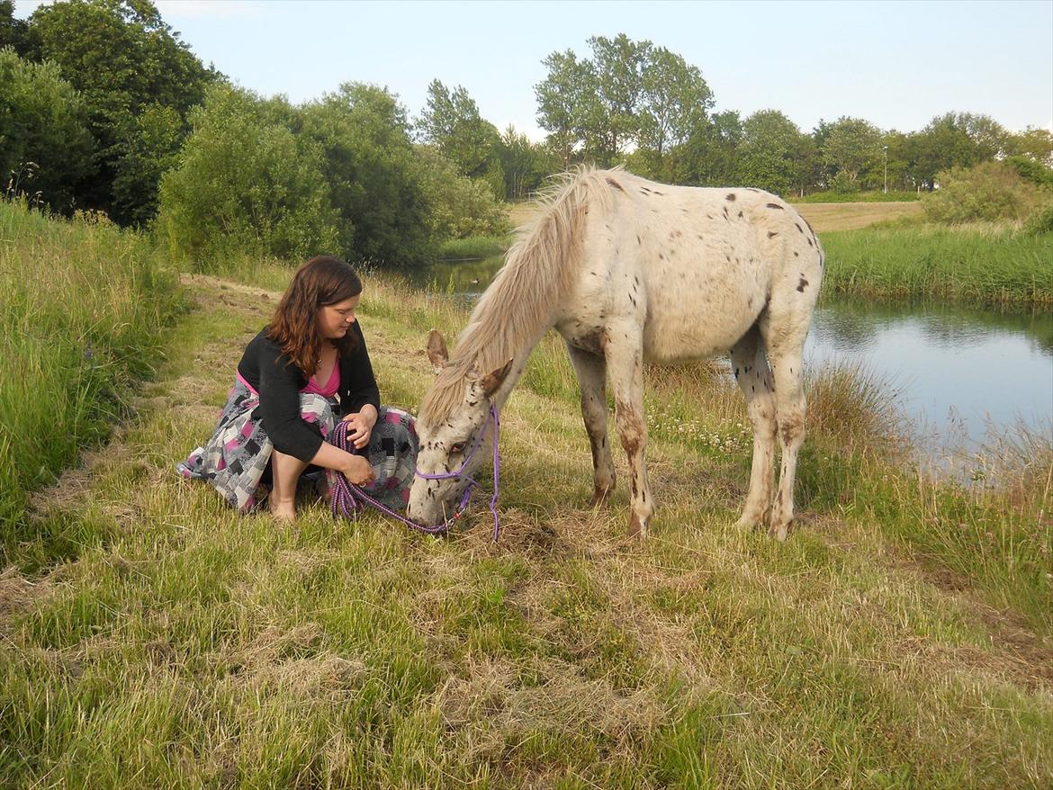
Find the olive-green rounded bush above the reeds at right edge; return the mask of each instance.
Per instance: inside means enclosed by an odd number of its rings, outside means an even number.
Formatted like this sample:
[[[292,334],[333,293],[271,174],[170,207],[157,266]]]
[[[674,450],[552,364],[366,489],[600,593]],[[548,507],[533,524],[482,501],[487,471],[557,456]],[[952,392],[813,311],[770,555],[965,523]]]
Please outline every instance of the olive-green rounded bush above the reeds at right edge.
[[[922,198],[926,215],[945,224],[1020,220],[1048,199],[1048,191],[1025,181],[1005,162],[954,167],[936,177],[939,189]]]

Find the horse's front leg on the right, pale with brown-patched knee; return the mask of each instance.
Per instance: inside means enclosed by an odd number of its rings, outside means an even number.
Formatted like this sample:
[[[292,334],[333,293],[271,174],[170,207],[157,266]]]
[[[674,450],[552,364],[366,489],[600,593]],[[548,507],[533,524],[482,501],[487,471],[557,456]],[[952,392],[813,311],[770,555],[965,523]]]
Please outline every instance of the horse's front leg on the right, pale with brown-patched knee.
[[[629,535],[645,535],[654,501],[648,486],[644,450],[648,424],[643,418],[643,339],[638,328],[612,329],[607,345],[607,368],[614,391],[618,438],[629,456],[632,494],[629,505]]]

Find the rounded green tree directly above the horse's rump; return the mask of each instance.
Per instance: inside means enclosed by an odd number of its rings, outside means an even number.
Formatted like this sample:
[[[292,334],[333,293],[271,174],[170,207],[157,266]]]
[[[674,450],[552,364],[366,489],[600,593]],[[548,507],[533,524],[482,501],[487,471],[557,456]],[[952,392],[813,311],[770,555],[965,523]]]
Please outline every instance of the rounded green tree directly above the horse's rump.
[[[742,123],[738,181],[778,195],[804,186],[809,145],[793,121],[777,110],[761,110]]]

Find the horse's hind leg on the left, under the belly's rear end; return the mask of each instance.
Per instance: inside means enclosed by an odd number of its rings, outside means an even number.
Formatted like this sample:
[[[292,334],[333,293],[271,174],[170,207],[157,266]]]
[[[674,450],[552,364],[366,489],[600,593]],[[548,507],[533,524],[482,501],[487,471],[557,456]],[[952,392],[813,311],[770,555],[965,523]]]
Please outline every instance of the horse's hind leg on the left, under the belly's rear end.
[[[740,527],[768,521],[772,507],[772,463],[775,458],[775,393],[760,332],[754,325],[731,349],[731,366],[753,428],[753,467]]]

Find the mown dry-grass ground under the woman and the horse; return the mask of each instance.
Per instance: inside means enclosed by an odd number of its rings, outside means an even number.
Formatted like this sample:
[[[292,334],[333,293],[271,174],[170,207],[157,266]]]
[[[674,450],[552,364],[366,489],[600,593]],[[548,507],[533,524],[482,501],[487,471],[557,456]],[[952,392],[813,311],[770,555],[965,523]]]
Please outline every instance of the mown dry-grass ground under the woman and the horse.
[[[419,402],[426,330],[464,314],[365,284],[385,399]],[[275,299],[188,285],[198,312],[152,408],[49,499],[97,537],[47,574],[0,575],[0,785],[1053,783],[1048,448],[997,490],[932,483],[899,466],[881,388],[820,372],[799,527],[775,545],[731,526],[739,397],[712,368],[674,369],[649,376],[659,510],[625,544],[623,458],[611,507],[589,509],[550,337],[502,415],[498,545],[483,506],[448,539],[306,502],[276,525],[171,471]]]

